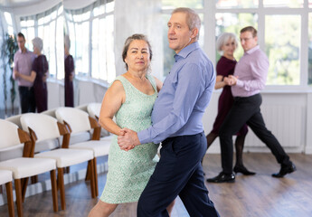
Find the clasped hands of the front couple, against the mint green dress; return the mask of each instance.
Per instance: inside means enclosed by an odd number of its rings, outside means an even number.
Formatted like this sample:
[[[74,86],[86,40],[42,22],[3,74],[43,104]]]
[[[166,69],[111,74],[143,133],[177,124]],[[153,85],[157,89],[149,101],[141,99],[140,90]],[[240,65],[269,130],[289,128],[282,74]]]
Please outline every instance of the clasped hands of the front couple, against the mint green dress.
[[[120,129],[120,135],[118,136],[118,146],[121,150],[128,151],[135,148],[135,146],[139,144],[140,141],[138,140],[137,132],[128,128]]]

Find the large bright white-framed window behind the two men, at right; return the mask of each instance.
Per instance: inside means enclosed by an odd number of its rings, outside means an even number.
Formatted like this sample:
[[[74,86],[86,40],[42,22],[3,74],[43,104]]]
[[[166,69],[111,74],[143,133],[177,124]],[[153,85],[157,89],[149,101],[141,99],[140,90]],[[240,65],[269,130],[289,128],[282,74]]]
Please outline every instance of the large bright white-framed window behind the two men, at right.
[[[206,33],[203,48],[214,65],[220,59],[215,49],[217,37],[231,32],[239,38],[241,28],[252,25],[258,30],[260,49],[269,58],[267,85],[296,88],[312,84],[312,0],[162,0],[162,3],[164,20],[179,6],[191,7],[202,14]],[[165,34],[164,47],[167,47]],[[235,58],[239,60],[242,54],[239,45]],[[173,64],[168,55],[171,54],[165,50],[164,75]]]

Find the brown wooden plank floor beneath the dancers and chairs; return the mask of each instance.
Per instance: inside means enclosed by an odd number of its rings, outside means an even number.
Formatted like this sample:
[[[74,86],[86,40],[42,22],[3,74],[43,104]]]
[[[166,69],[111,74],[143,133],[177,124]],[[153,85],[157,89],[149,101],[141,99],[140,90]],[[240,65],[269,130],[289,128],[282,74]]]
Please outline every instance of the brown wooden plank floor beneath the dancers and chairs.
[[[312,216],[312,156],[289,155],[298,171],[285,178],[276,179],[272,173],[279,165],[271,154],[244,154],[244,164],[257,175],[236,175],[233,184],[205,183],[209,196],[221,216],[225,217],[310,217]],[[203,161],[207,177],[221,170],[220,155],[207,155]],[[99,193],[102,192],[106,174],[99,175]],[[65,186],[67,210],[52,211],[51,191],[25,199],[24,216],[87,216],[97,199],[90,198],[90,184],[79,181]],[[59,201],[60,203],[60,201]],[[61,207],[60,207],[61,208]],[[137,203],[118,206],[111,216],[136,216]],[[15,212],[16,213],[16,212]],[[8,216],[6,204],[0,206],[0,216]],[[177,199],[173,217],[189,216],[183,203]]]

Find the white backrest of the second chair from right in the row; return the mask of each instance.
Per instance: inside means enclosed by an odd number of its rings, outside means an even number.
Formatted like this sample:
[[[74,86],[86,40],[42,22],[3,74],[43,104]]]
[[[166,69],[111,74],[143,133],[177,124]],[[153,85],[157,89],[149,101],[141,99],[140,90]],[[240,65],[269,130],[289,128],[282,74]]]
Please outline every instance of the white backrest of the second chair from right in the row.
[[[90,131],[90,119],[89,114],[80,109],[62,107],[56,109],[56,118],[64,124],[64,121],[71,126],[71,133],[79,133],[84,131]]]

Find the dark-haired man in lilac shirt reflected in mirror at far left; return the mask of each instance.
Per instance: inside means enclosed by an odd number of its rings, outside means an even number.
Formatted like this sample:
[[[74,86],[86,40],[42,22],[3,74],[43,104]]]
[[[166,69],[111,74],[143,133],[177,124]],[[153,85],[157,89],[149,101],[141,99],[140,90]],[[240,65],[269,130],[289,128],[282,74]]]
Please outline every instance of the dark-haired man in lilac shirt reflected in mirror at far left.
[[[35,100],[33,92],[33,82],[15,77],[15,74],[21,73],[24,75],[31,75],[32,65],[35,55],[33,52],[25,48],[25,38],[23,33],[17,34],[17,43],[19,50],[14,54],[14,80],[18,82],[18,91],[20,94],[22,114],[35,111]]]

